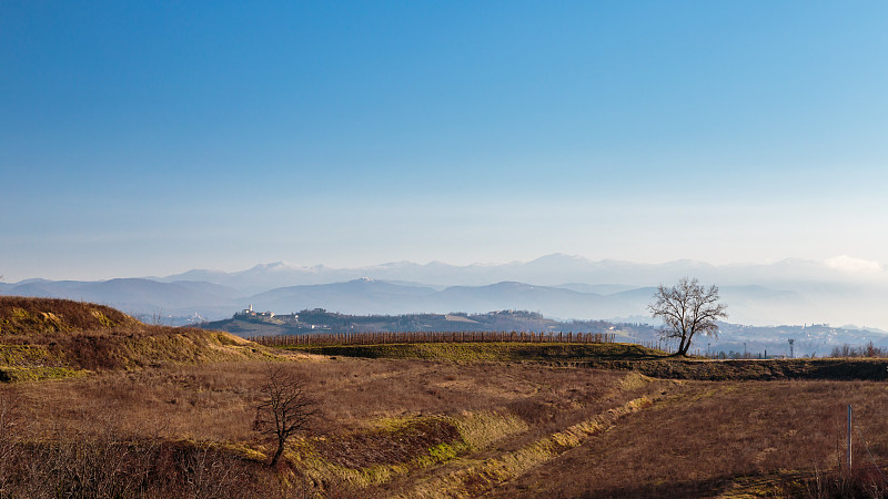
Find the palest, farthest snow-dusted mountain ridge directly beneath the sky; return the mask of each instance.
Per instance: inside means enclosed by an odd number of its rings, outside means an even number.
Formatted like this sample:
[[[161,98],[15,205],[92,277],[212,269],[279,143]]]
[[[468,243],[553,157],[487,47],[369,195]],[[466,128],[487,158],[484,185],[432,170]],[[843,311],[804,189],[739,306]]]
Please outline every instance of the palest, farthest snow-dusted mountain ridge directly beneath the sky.
[[[581,256],[552,254],[529,262],[506,264],[448,265],[440,262],[386,263],[369,267],[332,268],[324,265],[296,266],[284,262],[256,265],[241,272],[195,269],[155,281],[203,281],[241,291],[259,293],[275,287],[330,284],[371,277],[395,283],[430,286],[483,286],[506,281],[542,286],[565,283],[582,285],[624,285],[632,287],[668,284],[683,276],[720,286],[760,285],[778,287],[798,283],[888,284],[888,272],[870,262],[848,257],[826,262],[784,259],[773,264],[710,265],[682,259],[663,264],[639,264],[616,259],[591,261]]]

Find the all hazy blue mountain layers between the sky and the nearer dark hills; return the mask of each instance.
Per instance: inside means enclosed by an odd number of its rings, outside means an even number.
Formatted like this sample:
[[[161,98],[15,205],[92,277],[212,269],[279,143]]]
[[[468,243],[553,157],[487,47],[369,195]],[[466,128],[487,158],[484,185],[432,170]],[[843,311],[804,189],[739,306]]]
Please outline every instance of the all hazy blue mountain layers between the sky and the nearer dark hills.
[[[526,309],[558,319],[650,322],[646,306],[656,285],[682,276],[718,285],[731,323],[888,329],[885,271],[847,257],[722,266],[694,261],[593,262],[562,254],[466,266],[402,262],[331,268],[279,262],[233,273],[194,269],[101,282],[0,283],[0,294],[83,299],[135,315],[176,316],[180,323],[188,316],[226,318],[250,304],[276,313],[315,307],[361,315]]]

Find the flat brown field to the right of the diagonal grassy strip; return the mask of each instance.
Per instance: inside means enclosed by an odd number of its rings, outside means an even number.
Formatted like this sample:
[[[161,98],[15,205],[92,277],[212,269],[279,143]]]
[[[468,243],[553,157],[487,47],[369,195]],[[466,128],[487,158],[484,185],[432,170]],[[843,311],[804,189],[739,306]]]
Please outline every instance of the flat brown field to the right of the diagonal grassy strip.
[[[876,461],[888,461],[888,391],[868,381],[686,383],[497,493],[710,496],[738,477],[829,470],[844,449],[847,404]],[[856,460],[869,462],[856,436]]]

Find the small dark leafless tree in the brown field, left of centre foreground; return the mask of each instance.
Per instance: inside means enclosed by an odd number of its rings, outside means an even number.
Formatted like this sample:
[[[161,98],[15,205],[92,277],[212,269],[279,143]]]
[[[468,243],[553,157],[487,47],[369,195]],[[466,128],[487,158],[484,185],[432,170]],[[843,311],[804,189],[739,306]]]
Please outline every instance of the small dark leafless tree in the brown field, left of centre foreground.
[[[273,468],[290,437],[306,430],[317,415],[317,400],[309,394],[306,378],[283,363],[268,366],[260,394],[253,428],[278,441],[269,464]]]

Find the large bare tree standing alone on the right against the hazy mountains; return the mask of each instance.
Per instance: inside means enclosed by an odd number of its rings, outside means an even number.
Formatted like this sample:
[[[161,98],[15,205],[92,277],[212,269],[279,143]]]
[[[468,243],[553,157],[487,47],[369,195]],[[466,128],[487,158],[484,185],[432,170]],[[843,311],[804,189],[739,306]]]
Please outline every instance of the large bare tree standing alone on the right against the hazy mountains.
[[[718,337],[719,318],[727,318],[727,305],[718,303],[718,288],[702,286],[697,279],[682,277],[673,287],[659,285],[647,308],[664,323],[660,335],[678,338],[677,355],[687,355],[694,335]]]

